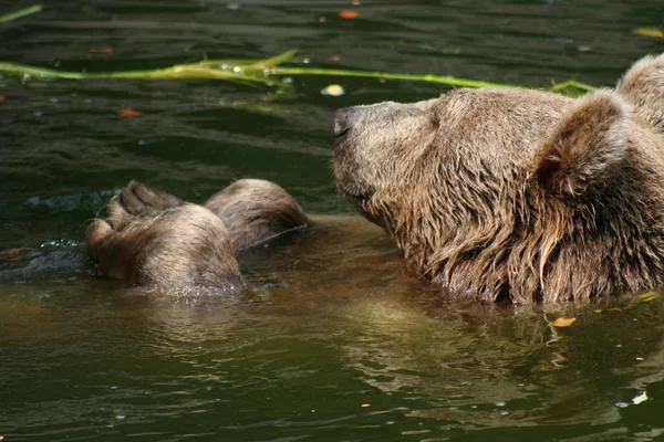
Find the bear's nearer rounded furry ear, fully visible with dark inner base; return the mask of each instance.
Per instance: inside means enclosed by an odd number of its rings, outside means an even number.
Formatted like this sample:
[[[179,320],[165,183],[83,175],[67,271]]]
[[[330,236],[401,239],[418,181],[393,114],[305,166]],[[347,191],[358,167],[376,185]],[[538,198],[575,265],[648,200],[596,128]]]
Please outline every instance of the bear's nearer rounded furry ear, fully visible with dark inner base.
[[[609,91],[578,101],[535,157],[535,178],[553,193],[581,193],[605,181],[627,154],[629,110]]]

